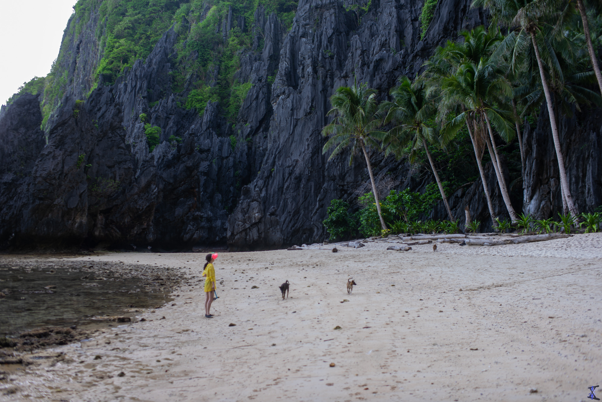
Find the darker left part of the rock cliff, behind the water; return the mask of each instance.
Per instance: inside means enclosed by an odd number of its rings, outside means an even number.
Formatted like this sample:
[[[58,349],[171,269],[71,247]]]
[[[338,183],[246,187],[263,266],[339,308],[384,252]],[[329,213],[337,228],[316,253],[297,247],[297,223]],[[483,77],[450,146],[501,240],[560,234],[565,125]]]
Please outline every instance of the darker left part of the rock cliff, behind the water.
[[[235,158],[229,138],[216,134],[223,125],[217,104],[208,104],[199,117],[179,108],[173,96],[160,100],[149,113],[152,123],[163,127],[162,140],[178,135],[183,141],[164,141],[152,153],[138,118],[147,111],[147,89],[157,93],[169,84],[174,40],[175,32],[167,32],[146,63],[138,60],[114,85],[99,85],[76,116],[75,99],[64,97],[46,147],[37,98],[34,103],[22,96],[7,108],[0,119],[7,152],[18,149],[20,143],[11,138],[19,134],[22,141],[34,137],[37,143],[31,141],[36,147],[28,156],[31,178],[13,184],[12,176],[3,176],[8,182],[3,212],[8,214],[2,216],[10,222],[21,219],[18,226],[2,225],[2,240],[15,232],[12,246],[84,240],[167,248],[225,243]],[[20,123],[24,116],[31,121]],[[3,161],[8,162],[4,173],[14,163]],[[9,190],[23,196],[13,197]]]

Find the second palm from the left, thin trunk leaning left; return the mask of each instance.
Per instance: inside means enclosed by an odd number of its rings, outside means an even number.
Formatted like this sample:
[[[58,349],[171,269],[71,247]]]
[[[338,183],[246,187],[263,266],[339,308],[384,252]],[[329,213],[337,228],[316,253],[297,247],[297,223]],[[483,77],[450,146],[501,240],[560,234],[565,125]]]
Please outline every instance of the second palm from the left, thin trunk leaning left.
[[[428,146],[429,142],[433,143],[436,140],[437,135],[436,130],[428,123],[428,120],[435,119],[437,111],[435,102],[428,99],[424,85],[421,82],[412,85],[412,81],[406,76],[402,77],[400,81],[400,85],[391,90],[393,102],[383,102],[382,104],[383,110],[387,111],[385,123],[393,122],[396,124],[394,128],[389,130],[383,141],[388,145],[386,150],[387,152],[392,150],[399,153],[406,144],[411,143],[409,159],[411,163],[414,163],[417,150],[424,147],[426,156],[429,158],[430,169],[432,169],[439,186],[447,215],[450,221],[455,221]]]

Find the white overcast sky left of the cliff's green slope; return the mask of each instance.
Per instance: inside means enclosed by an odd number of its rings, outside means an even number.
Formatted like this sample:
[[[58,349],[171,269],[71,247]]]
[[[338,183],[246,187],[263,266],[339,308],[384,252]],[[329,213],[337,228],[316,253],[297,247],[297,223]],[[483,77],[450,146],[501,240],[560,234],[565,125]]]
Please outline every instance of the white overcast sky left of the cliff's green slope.
[[[77,0],[0,0],[0,104],[34,76],[46,76]]]

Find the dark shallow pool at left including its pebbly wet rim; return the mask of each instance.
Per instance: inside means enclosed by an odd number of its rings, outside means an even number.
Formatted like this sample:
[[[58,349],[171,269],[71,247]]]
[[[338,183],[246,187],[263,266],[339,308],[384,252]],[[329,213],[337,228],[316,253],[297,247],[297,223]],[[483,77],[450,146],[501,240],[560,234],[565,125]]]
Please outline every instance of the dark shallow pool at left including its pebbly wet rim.
[[[179,283],[173,271],[154,264],[91,261],[2,255],[0,292],[5,295],[0,295],[0,338],[20,333],[19,339],[24,330],[45,326],[91,330],[103,323],[106,327],[105,321],[115,316],[134,317],[135,309],[125,311],[128,307],[171,301],[169,294]],[[29,347],[29,341],[23,346]],[[40,342],[52,344],[46,339]]]

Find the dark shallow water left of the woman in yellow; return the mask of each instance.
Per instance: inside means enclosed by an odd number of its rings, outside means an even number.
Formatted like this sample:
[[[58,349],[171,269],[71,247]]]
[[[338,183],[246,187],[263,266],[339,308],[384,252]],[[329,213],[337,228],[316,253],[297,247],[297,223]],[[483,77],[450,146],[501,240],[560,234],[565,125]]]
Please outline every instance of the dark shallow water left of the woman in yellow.
[[[135,313],[124,309],[173,300],[159,289],[145,289],[139,278],[64,267],[0,265],[0,292],[6,294],[0,298],[0,336],[48,325],[87,326],[98,323],[91,320],[98,315],[133,317]],[[111,325],[117,324],[102,323]]]

